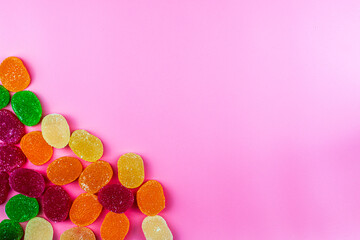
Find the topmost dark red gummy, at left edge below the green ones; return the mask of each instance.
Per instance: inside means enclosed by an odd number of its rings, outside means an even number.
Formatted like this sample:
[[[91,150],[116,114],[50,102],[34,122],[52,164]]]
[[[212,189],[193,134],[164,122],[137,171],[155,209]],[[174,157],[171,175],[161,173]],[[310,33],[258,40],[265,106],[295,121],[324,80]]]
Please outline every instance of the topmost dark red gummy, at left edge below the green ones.
[[[25,134],[25,126],[9,110],[0,110],[0,141],[7,144],[19,143]]]

